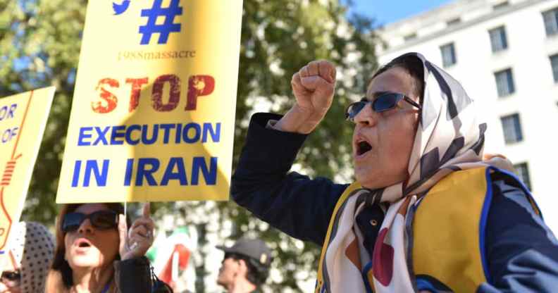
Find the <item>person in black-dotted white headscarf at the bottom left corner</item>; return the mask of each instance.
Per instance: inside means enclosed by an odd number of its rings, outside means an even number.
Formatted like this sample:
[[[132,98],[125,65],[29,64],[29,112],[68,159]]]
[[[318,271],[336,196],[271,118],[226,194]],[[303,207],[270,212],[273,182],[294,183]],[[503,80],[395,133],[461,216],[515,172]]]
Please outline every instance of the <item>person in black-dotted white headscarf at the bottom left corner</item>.
[[[44,225],[13,226],[9,249],[1,256],[1,293],[44,292],[44,278],[54,256],[54,240]]]

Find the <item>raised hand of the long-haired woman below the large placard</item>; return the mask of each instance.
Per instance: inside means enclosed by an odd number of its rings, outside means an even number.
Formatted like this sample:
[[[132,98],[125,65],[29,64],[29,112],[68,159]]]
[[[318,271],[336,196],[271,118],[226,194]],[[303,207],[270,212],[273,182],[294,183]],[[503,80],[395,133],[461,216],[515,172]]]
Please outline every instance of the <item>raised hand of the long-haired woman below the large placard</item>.
[[[120,259],[130,259],[144,256],[153,244],[153,230],[155,224],[151,220],[151,205],[144,204],[143,214],[137,218],[128,230],[126,217],[119,215],[118,232],[120,234]]]

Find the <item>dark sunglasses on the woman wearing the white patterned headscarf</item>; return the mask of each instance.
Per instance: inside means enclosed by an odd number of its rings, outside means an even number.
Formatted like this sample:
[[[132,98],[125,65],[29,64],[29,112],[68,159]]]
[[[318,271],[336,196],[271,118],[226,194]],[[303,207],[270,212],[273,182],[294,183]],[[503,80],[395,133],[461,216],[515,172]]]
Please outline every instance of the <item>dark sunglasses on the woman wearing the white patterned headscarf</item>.
[[[372,111],[380,113],[395,108],[397,103],[401,100],[407,101],[407,103],[419,108],[419,110],[421,109],[421,105],[416,104],[416,102],[409,98],[409,96],[398,94],[396,92],[386,92],[385,94],[377,96],[373,101],[368,101],[365,96],[360,101],[350,104],[345,111],[345,119],[354,122],[354,118],[364,108],[364,106],[366,106],[366,104],[371,105]]]

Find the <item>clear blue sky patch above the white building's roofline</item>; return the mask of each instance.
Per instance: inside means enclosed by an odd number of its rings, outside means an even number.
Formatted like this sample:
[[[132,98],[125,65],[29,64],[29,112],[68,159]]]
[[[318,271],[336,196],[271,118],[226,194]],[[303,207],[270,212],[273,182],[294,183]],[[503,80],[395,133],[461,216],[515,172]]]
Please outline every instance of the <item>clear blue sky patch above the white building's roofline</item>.
[[[424,11],[430,11],[455,0],[352,0],[351,12],[376,19],[376,25],[387,25]],[[347,0],[342,2],[347,3]]]

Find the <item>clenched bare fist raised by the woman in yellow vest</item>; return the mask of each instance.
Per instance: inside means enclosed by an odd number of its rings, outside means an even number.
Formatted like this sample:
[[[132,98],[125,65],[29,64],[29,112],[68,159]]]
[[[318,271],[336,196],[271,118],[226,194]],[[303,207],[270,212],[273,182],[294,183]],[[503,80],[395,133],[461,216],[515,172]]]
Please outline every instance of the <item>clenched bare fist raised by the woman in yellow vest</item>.
[[[325,60],[311,61],[292,75],[291,86],[297,104],[275,124],[275,128],[310,133],[321,122],[333,101],[335,66]]]

